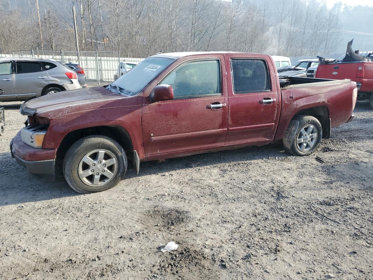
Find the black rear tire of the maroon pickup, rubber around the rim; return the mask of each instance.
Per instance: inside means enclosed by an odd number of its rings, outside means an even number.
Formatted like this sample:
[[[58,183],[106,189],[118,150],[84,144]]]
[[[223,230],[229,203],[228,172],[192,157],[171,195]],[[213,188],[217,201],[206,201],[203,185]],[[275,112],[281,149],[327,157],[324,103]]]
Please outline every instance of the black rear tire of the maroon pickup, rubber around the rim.
[[[310,139],[309,138],[310,136],[307,135],[307,136],[305,136],[304,139],[299,139],[300,141],[304,140],[305,142],[302,141],[301,143],[298,144],[297,143],[298,136],[300,136],[301,130],[304,127],[307,127],[307,126],[313,128],[310,125],[312,125],[314,127],[314,129],[317,131],[317,135],[314,137],[314,139],[316,139],[316,140],[314,141],[314,143],[312,143],[312,139]],[[321,126],[319,120],[316,119],[315,117],[301,115],[301,116],[297,116],[297,117],[293,118],[290,121],[289,126],[285,131],[285,135],[282,139],[282,143],[283,143],[283,147],[285,148],[285,152],[289,153],[290,155],[293,155],[293,156],[308,156],[308,155],[311,155],[317,149],[317,147],[319,146],[319,144],[321,142],[321,139],[322,139],[322,133],[323,133],[322,126]],[[306,134],[308,134],[308,133],[306,133]],[[313,134],[314,133],[311,133],[311,135],[313,135]],[[307,144],[307,142],[312,144],[313,146],[311,147],[311,145]],[[307,146],[305,146],[306,147],[305,151],[302,151],[300,149],[300,147],[298,146],[298,145],[302,146],[303,143],[305,143],[304,145],[307,145]]]

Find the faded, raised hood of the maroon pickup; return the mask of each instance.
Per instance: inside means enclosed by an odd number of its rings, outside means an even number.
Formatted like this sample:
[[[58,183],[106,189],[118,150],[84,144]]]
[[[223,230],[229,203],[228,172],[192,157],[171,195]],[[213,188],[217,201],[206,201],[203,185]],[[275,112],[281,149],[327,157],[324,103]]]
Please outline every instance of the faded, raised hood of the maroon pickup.
[[[122,99],[131,99],[131,97],[113,93],[102,86],[79,88],[26,100],[19,108],[19,112],[22,115],[55,118],[73,112],[105,108],[112,106],[113,102],[119,105],[117,101]]]

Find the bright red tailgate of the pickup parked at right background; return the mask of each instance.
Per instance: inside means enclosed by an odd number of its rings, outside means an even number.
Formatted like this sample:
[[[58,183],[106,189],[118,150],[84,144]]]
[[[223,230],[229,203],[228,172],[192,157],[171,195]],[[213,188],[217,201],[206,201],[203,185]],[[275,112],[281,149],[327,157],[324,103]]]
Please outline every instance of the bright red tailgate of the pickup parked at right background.
[[[356,82],[357,69],[360,62],[327,63],[317,66],[316,78],[344,80]]]

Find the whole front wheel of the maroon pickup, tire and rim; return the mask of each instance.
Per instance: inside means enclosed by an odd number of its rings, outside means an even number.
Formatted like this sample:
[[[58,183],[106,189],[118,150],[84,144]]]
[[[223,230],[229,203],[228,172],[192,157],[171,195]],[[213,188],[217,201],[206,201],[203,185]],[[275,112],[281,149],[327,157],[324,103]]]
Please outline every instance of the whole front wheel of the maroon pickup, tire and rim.
[[[102,192],[116,186],[127,170],[123,148],[106,136],[87,136],[76,141],[63,160],[69,186],[78,193]]]

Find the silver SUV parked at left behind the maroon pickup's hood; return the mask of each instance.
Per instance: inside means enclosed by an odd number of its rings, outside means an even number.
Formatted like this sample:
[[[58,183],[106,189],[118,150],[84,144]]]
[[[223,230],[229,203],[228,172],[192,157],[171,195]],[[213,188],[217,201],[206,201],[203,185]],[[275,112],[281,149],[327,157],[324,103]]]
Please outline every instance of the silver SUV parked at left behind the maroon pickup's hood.
[[[56,60],[0,58],[0,101],[21,101],[76,88],[81,88],[76,73]]]

